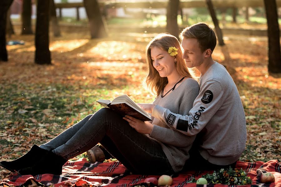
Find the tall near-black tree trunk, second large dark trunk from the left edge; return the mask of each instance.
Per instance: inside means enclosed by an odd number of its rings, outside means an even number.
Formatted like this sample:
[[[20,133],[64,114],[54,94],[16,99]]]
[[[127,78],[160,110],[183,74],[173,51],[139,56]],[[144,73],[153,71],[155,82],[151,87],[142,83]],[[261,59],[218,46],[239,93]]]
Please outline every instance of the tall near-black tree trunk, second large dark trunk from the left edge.
[[[50,1],[37,0],[37,19],[35,31],[35,63],[51,64],[49,50],[49,6]]]

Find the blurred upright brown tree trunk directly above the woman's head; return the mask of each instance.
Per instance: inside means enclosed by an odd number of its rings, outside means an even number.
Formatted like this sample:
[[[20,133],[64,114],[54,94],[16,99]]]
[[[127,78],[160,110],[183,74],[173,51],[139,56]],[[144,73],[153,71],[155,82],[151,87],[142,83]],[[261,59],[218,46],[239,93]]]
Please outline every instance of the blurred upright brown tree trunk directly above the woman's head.
[[[166,30],[171,35],[179,39],[179,26],[178,26],[178,10],[180,1],[179,0],[169,0],[167,6],[167,25]]]

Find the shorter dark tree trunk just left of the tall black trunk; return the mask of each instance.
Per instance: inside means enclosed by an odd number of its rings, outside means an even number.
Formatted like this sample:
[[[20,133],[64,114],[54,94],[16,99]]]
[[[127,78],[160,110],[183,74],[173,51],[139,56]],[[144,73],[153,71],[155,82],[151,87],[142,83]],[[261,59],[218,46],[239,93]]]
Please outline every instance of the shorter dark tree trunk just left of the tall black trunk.
[[[31,0],[23,0],[22,3],[22,35],[33,34],[31,24],[32,14]]]

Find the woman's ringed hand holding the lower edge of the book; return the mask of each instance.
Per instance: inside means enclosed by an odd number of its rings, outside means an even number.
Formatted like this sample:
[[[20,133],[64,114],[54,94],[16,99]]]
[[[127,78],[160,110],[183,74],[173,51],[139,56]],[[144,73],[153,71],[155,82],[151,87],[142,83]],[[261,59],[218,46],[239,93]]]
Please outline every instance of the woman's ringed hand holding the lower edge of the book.
[[[136,129],[137,132],[140,132],[142,134],[150,134],[153,129],[153,125],[150,122],[143,122],[128,115],[123,117],[123,119],[129,122],[129,125]]]

